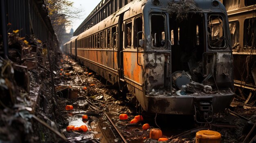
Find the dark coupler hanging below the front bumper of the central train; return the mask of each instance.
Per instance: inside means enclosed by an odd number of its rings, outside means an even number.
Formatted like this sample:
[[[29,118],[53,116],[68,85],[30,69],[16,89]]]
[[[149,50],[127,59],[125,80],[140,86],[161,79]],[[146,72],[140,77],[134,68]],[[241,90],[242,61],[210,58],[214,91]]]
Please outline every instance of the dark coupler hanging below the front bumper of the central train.
[[[213,107],[210,102],[198,102],[194,104],[195,121],[197,123],[211,123],[213,121]]]

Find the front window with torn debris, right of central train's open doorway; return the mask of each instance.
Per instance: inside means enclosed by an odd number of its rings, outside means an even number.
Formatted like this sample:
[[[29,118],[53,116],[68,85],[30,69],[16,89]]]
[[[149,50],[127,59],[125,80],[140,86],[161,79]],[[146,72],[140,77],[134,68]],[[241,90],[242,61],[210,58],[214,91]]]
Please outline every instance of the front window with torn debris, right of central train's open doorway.
[[[225,48],[227,45],[223,19],[221,15],[209,16],[207,30],[211,48]]]

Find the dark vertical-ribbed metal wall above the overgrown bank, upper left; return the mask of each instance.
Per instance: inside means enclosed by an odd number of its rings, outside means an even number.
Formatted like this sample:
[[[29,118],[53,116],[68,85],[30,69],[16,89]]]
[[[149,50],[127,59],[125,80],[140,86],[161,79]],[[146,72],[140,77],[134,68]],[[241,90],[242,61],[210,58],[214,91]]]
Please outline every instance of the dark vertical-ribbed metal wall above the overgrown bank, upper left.
[[[6,3],[7,31],[20,30],[20,37],[29,41],[31,34],[45,42],[57,37],[44,0],[3,0]]]

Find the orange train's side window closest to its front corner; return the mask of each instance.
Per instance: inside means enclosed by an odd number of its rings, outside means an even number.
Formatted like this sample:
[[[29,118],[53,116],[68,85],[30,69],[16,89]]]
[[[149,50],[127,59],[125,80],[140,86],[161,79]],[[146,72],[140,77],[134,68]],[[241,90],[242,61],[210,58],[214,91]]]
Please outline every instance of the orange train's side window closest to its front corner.
[[[141,32],[142,31],[142,18],[141,18],[141,16],[140,17],[138,17],[138,18],[135,18],[135,21],[134,21],[134,38],[133,38],[133,47],[134,48],[137,48],[137,47],[139,47],[139,45],[138,45],[138,42],[139,42],[139,40],[141,40],[142,39],[142,33],[139,33],[139,34],[137,34],[138,32]],[[137,35],[138,35],[138,37],[137,37]]]

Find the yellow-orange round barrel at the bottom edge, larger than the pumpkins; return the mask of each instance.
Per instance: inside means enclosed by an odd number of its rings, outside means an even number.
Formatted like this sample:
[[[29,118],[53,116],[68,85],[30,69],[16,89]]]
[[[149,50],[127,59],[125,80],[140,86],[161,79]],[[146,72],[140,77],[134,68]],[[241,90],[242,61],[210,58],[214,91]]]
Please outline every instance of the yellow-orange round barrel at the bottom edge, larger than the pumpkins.
[[[195,134],[195,143],[220,143],[221,134],[211,130],[201,130]]]

